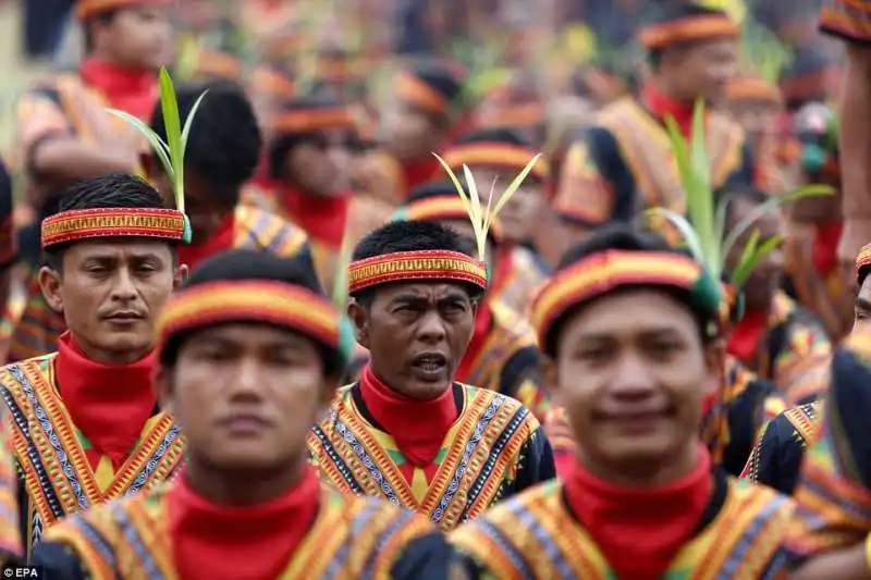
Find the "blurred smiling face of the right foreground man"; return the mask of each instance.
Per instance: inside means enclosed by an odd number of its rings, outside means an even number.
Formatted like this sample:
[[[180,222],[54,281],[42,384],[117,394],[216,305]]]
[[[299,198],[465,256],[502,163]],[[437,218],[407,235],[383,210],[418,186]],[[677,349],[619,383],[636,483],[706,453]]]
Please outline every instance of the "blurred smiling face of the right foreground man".
[[[584,459],[618,473],[683,456],[717,388],[717,356],[686,305],[660,291],[626,291],[577,311],[560,334],[554,394]]]

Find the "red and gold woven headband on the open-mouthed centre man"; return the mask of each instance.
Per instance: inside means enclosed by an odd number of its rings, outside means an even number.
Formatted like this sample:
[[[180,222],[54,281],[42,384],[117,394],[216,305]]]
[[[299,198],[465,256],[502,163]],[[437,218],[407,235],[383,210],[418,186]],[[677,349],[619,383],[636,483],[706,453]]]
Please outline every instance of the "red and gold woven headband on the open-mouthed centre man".
[[[459,251],[397,251],[351,262],[348,294],[391,282],[453,281],[487,289],[487,266]]]

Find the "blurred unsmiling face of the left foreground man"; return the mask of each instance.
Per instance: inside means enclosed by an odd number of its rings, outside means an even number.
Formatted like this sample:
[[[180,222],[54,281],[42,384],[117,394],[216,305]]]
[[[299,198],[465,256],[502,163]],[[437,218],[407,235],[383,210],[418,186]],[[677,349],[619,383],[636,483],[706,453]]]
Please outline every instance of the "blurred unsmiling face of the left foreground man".
[[[271,470],[304,457],[338,380],[310,338],[233,323],[188,336],[156,381],[184,424],[188,454],[214,469]]]

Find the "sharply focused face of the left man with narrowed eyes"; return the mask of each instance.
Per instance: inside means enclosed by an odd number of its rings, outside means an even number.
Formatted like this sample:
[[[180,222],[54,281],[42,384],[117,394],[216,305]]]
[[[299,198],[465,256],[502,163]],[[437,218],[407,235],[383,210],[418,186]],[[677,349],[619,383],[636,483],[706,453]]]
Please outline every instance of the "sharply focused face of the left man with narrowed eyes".
[[[136,360],[181,276],[168,244],[118,239],[70,246],[63,271],[42,268],[39,284],[86,354]]]

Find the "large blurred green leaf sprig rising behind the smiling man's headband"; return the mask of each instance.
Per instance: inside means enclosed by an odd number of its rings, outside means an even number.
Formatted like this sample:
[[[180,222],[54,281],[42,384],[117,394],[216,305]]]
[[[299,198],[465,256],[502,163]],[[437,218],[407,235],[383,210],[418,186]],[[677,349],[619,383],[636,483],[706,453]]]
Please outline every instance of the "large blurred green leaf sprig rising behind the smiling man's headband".
[[[682,135],[674,119],[666,120],[668,137],[686,194],[686,217],[665,208],[652,208],[648,212],[665,218],[680,233],[692,256],[708,268],[711,276],[715,280],[723,280],[726,274],[726,257],[759,218],[796,199],[832,195],[834,190],[829,186],[809,185],[789,194],[772,196],[764,203],[753,208],[729,231],[726,231],[726,214],[731,199],[725,197],[719,202],[714,201],[709,157],[704,145],[704,104],[699,100],[694,110],[689,143]],[[753,230],[741,251],[738,263],[728,272],[727,282],[735,289],[740,289],[753,269],[781,242],[780,237],[762,240],[759,230]]]

